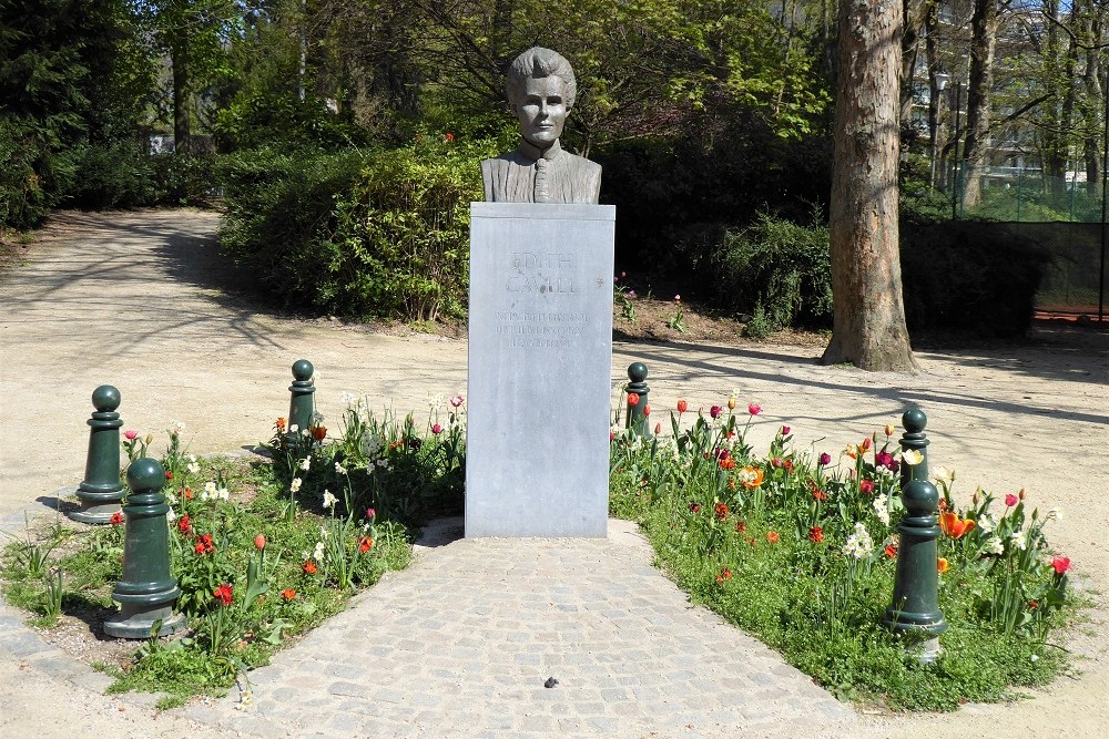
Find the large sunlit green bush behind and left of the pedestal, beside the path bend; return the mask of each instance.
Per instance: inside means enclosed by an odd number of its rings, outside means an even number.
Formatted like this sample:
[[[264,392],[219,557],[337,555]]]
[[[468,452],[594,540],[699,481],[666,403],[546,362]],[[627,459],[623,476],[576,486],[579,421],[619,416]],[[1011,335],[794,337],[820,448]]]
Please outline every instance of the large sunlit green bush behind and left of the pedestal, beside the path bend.
[[[243,152],[223,165],[221,243],[286,305],[344,316],[462,315],[469,203],[489,142],[304,157]]]

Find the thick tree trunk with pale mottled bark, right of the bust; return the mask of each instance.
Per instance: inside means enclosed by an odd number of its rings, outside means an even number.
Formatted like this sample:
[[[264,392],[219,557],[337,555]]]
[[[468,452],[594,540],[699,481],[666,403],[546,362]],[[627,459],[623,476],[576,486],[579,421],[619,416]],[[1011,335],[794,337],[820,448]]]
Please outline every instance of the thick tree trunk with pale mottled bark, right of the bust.
[[[825,365],[915,371],[897,233],[901,0],[840,4],[832,165],[832,341]]]

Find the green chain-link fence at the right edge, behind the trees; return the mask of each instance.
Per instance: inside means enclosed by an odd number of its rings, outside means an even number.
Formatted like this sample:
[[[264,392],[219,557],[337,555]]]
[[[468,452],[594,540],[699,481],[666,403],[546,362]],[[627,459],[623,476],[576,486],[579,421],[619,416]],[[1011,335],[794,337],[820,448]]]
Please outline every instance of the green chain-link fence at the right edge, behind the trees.
[[[1036,307],[1105,320],[1109,202],[1101,183],[1086,182],[1082,173],[1047,177],[1024,167],[984,167],[978,177],[969,174],[960,168],[955,177],[953,214],[998,222],[997,228],[1030,239],[1049,255]]]

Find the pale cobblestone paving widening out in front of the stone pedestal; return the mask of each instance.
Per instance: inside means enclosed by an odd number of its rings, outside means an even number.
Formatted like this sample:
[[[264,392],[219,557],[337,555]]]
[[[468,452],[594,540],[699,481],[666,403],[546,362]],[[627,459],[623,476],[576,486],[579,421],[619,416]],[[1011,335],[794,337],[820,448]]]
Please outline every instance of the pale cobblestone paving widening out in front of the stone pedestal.
[[[749,737],[774,727],[835,736],[857,719],[772,650],[690,605],[650,558],[634,536],[421,547],[408,571],[255,670],[253,707],[236,708],[232,691],[181,710],[263,738],[286,727],[328,738]],[[0,651],[91,689],[111,682],[69,674],[74,663],[2,606]],[[551,676],[558,686],[543,688]]]

